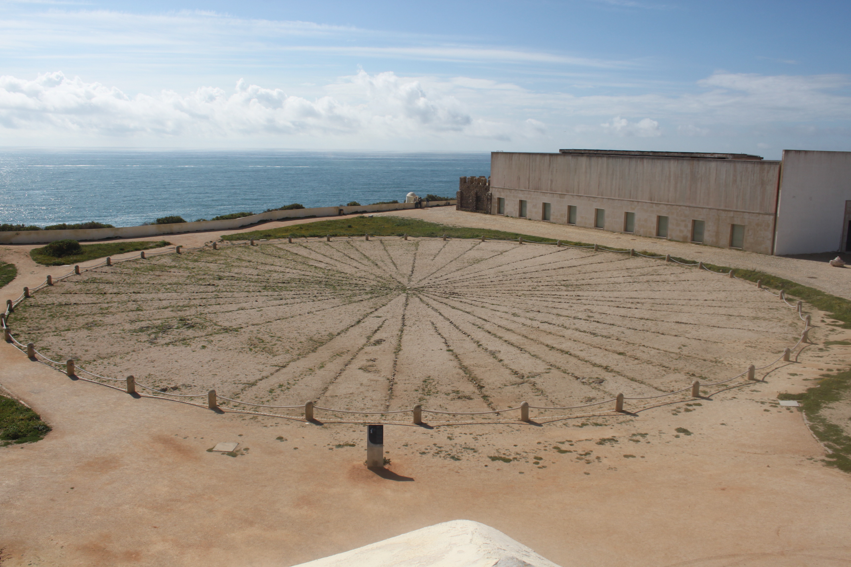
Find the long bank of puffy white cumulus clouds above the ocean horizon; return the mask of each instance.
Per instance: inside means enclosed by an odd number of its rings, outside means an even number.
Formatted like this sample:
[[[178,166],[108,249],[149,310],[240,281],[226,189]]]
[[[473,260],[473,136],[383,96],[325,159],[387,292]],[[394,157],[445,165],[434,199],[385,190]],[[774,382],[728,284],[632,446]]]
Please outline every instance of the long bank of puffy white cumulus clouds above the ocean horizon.
[[[543,129],[535,120],[513,125],[475,120],[458,99],[429,94],[420,82],[391,72],[359,71],[328,89],[331,94],[309,100],[240,80],[231,94],[202,87],[189,94],[163,91],[131,97],[59,71],[34,81],[4,76],[0,126],[45,134],[153,135],[187,141],[252,135],[392,139],[445,133],[511,139],[540,135]]]

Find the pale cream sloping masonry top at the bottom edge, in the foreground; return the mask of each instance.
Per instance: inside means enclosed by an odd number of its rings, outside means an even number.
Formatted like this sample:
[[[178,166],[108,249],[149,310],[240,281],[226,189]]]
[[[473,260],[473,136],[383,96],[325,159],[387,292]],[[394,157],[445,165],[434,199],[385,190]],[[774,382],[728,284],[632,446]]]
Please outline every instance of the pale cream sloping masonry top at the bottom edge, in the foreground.
[[[455,519],[296,567],[558,567],[500,530]]]

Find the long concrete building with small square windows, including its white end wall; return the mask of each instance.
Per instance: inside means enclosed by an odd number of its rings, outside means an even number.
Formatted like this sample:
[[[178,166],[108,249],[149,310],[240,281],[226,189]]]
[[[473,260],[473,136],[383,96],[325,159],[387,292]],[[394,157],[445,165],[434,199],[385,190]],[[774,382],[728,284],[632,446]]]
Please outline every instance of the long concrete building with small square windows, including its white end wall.
[[[851,152],[494,152],[489,179],[461,178],[458,207],[764,254],[851,252]]]

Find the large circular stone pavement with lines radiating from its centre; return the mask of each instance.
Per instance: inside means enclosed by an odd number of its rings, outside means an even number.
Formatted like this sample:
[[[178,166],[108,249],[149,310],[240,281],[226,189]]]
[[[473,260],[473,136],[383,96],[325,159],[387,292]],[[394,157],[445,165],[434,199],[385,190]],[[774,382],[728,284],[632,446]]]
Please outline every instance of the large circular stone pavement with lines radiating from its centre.
[[[752,284],[660,260],[384,239],[105,266],[38,292],[10,326],[54,360],[174,394],[488,411],[733,377],[794,344],[802,323]]]

